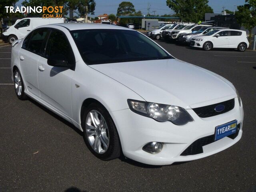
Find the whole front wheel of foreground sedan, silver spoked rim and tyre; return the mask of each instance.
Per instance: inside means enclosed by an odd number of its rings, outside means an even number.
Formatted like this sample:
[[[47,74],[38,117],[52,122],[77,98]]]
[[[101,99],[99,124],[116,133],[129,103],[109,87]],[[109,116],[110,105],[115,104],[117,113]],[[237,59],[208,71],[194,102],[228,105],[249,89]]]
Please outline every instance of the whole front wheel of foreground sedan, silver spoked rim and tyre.
[[[120,156],[116,126],[108,111],[98,103],[90,104],[83,116],[84,141],[89,150],[101,160]]]

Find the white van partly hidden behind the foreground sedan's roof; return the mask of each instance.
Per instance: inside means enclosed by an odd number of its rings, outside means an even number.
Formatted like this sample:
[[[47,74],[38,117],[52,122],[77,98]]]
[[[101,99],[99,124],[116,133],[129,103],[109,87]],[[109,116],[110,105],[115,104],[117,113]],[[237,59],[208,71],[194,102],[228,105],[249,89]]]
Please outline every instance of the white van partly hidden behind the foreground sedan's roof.
[[[64,18],[23,18],[4,29],[3,41],[12,44],[15,40],[24,38],[34,28],[54,23],[64,23]]]

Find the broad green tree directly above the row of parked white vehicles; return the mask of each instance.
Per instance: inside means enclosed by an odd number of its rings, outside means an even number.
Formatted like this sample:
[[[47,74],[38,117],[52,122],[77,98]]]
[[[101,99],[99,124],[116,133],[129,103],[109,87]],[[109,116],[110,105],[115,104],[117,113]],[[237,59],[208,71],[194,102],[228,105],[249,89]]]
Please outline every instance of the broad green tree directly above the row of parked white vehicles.
[[[184,22],[198,22],[205,13],[213,13],[208,0],[166,0],[166,5]]]

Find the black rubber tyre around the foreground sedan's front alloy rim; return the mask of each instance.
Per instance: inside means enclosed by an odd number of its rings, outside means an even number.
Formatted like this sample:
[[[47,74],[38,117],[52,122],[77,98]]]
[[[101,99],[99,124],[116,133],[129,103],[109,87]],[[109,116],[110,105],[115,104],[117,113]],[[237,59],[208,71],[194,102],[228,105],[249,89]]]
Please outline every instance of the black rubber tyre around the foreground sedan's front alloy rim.
[[[100,114],[104,117],[104,120],[108,126],[109,146],[108,146],[108,149],[102,154],[99,154],[96,151],[94,151],[94,149],[90,145],[88,138],[86,136],[86,117],[89,114],[89,112],[91,112],[92,110],[96,110],[96,111],[100,112]],[[94,154],[97,158],[99,158],[101,160],[112,160],[112,159],[120,157],[121,146],[120,146],[118,132],[116,130],[114,121],[112,120],[112,118],[111,118],[110,114],[108,113],[108,111],[106,110],[106,108],[104,108],[104,106],[102,106],[101,104],[91,103],[84,110],[84,113],[82,115],[83,115],[82,128],[84,130],[84,132],[83,132],[84,141],[86,143],[86,146],[89,148],[90,152],[92,152],[92,154]]]

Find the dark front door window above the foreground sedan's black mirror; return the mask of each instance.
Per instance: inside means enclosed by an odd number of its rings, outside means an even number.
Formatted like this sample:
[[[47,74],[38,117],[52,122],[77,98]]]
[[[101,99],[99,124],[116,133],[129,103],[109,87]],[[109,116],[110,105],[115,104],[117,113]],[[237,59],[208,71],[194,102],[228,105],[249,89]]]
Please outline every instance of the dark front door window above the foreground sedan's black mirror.
[[[52,57],[66,60],[69,64],[74,64],[75,62],[74,54],[66,35],[58,30],[52,30],[50,33],[45,56],[46,58]]]

